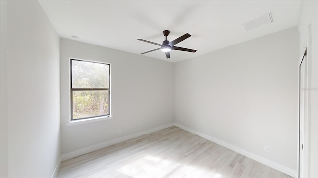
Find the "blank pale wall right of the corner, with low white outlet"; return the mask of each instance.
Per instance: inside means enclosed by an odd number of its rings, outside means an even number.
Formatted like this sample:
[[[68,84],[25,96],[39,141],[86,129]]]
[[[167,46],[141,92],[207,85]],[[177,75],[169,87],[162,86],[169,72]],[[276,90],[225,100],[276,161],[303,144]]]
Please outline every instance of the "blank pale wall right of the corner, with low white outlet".
[[[175,122],[294,174],[298,46],[294,27],[176,63]]]

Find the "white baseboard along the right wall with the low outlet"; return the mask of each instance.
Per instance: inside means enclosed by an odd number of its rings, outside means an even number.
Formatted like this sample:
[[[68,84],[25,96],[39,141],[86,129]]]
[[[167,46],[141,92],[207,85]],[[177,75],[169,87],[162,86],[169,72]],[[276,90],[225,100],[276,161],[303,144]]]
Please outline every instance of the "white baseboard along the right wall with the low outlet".
[[[209,136],[207,134],[200,133],[200,132],[195,131],[193,129],[190,129],[190,128],[186,127],[186,126],[183,126],[181,124],[174,123],[174,126],[179,127],[179,128],[181,128],[183,130],[186,130],[186,131],[188,131],[188,132],[190,132],[192,134],[196,134],[198,136],[201,136],[201,137],[203,137],[203,138],[205,138],[207,140],[210,140],[212,142],[215,142],[215,143],[217,143],[217,144],[219,144],[221,146],[224,146],[224,147],[226,147],[226,148],[228,148],[230,150],[233,150],[233,151],[235,151],[235,152],[237,152],[239,154],[242,154],[242,155],[244,155],[244,156],[246,156],[246,157],[248,157],[250,159],[258,161],[258,162],[260,162],[260,163],[262,163],[262,164],[264,164],[266,166],[274,168],[274,169],[276,169],[276,170],[278,170],[280,172],[283,172],[283,173],[285,173],[287,175],[290,175],[290,176],[292,176],[294,178],[297,177],[297,171],[296,170],[288,168],[288,167],[286,167],[284,165],[278,164],[278,163],[273,162],[271,160],[268,160],[268,159],[266,159],[264,157],[258,156],[258,155],[254,154],[254,153],[251,153],[251,152],[243,150],[243,149],[241,149],[239,147],[233,146],[233,145],[231,145],[231,144],[229,144],[227,142],[221,141],[221,140],[219,140],[217,138],[214,138],[212,136]]]

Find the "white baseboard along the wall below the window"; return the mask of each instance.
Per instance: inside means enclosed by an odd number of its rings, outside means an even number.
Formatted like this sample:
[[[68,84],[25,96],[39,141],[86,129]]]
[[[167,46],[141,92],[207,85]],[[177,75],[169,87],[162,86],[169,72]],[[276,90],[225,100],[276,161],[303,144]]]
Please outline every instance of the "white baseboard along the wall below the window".
[[[72,151],[70,153],[63,154],[61,156],[61,160],[64,161],[64,160],[67,160],[67,159],[71,159],[71,158],[74,158],[74,157],[77,157],[77,156],[80,156],[80,155],[83,155],[83,154],[86,154],[86,153],[89,153],[89,152],[92,152],[92,151],[96,151],[96,150],[105,148],[107,146],[111,146],[111,145],[116,144],[116,143],[120,143],[120,142],[123,142],[123,141],[127,141],[129,139],[136,138],[138,136],[142,136],[142,135],[145,135],[145,134],[150,134],[150,133],[153,133],[153,132],[156,132],[156,131],[160,131],[162,129],[165,129],[165,128],[168,128],[168,127],[171,127],[171,126],[174,126],[174,124],[173,123],[166,124],[166,125],[159,126],[159,127],[156,127],[156,128],[152,128],[152,129],[149,129],[149,130],[146,130],[146,131],[142,131],[142,132],[139,132],[139,133],[136,133],[136,134],[127,135],[127,136],[123,136],[123,137],[120,137],[120,138],[112,139],[112,140],[109,140],[109,141],[106,141],[106,142],[103,142],[103,143],[99,143],[99,144],[96,144],[96,145],[88,146],[88,147],[85,147],[85,148],[82,148],[82,149],[79,149],[79,150],[76,150],[76,151]]]

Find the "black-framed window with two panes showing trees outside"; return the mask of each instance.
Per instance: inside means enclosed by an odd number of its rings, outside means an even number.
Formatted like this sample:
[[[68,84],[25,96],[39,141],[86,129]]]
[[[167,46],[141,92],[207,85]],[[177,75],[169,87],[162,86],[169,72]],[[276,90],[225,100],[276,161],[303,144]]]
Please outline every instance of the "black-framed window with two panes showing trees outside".
[[[71,120],[110,116],[110,64],[71,59]]]

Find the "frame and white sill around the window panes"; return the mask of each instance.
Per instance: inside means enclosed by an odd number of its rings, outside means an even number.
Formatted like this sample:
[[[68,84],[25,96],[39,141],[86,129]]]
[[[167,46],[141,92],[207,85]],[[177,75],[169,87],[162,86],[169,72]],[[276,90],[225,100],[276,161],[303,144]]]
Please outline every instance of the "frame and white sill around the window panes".
[[[71,122],[79,122],[79,121],[100,120],[101,118],[112,119],[113,117],[111,116],[111,100],[110,100],[111,99],[111,97],[110,97],[110,87],[111,87],[110,86],[110,63],[76,59],[76,58],[69,58],[69,59],[70,59],[70,123]],[[108,77],[108,88],[72,88],[72,60],[108,65],[108,76],[109,76]],[[73,119],[73,91],[108,91],[108,114]],[[90,121],[90,122],[92,122],[92,121]],[[86,123],[86,122],[83,122],[83,123]]]

